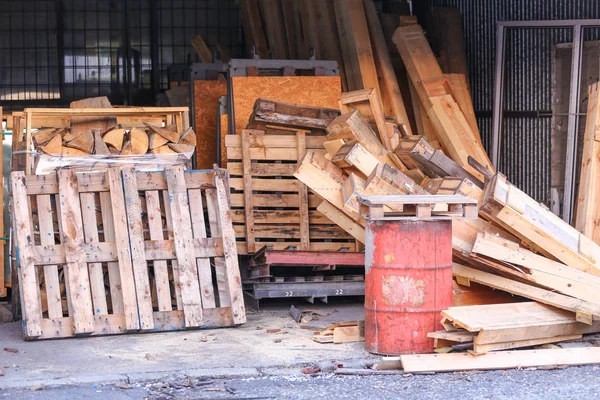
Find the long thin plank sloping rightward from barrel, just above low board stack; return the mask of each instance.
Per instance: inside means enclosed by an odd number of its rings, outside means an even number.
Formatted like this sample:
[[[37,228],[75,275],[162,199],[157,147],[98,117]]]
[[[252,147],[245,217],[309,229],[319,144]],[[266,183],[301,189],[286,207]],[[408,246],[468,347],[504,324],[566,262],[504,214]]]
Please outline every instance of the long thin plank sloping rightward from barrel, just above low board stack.
[[[600,317],[600,306],[597,304],[516,282],[488,272],[465,267],[464,265],[454,263],[452,266],[452,274],[456,277],[465,278],[468,281],[477,282],[494,289],[503,290],[518,296],[527,297],[531,300],[539,301],[540,303],[575,312],[577,314],[577,320],[586,322],[588,325],[591,325],[592,320]]]

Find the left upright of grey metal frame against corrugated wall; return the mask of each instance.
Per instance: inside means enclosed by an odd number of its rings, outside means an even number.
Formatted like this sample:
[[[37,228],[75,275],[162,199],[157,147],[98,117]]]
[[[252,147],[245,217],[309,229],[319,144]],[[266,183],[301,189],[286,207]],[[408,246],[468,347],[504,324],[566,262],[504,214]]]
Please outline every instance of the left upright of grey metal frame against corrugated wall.
[[[502,118],[504,112],[504,25],[498,23],[496,28],[496,86],[494,88],[494,114],[492,130],[492,165],[498,169],[500,160],[500,142],[502,135]]]

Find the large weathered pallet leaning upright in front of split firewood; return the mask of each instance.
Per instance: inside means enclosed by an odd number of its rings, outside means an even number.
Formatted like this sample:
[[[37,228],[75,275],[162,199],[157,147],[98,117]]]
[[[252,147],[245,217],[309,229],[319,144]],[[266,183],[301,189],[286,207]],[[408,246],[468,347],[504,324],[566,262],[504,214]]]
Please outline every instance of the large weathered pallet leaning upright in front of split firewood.
[[[245,322],[225,171],[11,178],[26,339]]]

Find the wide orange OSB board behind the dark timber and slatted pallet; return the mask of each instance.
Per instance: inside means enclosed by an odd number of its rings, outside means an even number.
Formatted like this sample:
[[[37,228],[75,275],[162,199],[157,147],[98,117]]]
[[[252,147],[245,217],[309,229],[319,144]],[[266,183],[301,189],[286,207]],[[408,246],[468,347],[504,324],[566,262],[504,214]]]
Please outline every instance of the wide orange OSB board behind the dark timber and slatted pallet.
[[[232,82],[238,134],[248,124],[258,98],[337,109],[342,95],[339,76],[236,76]]]

